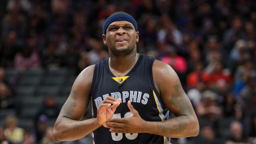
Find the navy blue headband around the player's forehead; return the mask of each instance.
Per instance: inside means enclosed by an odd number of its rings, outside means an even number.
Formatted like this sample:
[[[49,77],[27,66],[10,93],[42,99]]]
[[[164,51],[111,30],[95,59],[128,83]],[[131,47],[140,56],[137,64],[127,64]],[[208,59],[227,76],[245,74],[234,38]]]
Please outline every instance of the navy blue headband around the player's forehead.
[[[110,23],[114,21],[128,21],[132,23],[133,26],[135,27],[135,30],[138,31],[137,22],[135,21],[135,19],[128,14],[121,13],[121,14],[112,15],[111,17],[107,18],[107,20],[103,23],[103,34],[106,34],[108,25],[110,25]]]

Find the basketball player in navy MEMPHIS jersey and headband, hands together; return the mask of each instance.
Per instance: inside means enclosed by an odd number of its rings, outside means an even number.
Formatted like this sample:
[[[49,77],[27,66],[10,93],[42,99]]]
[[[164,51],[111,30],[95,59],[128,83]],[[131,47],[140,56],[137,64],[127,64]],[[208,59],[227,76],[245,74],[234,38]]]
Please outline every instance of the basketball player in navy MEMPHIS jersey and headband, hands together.
[[[112,14],[102,38],[110,58],[78,75],[55,122],[55,140],[92,132],[95,144],[170,144],[170,138],[196,136],[198,120],[175,71],[137,53],[134,18]],[[81,121],[90,100],[93,118]]]

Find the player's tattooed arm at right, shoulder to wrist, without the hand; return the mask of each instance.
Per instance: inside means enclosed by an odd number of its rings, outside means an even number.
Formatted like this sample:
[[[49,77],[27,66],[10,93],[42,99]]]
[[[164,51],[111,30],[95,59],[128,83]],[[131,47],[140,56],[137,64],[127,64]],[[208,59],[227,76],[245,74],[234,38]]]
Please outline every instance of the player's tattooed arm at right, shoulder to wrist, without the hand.
[[[150,127],[147,133],[172,138],[198,135],[199,124],[196,114],[175,71],[169,65],[155,60],[153,77],[162,101],[175,118],[162,122],[147,122]]]

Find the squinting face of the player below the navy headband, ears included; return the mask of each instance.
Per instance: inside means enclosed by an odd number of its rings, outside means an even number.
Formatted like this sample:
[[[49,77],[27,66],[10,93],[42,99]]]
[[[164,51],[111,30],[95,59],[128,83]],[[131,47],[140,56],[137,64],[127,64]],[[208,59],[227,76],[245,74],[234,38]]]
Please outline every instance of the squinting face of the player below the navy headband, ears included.
[[[136,32],[133,24],[128,21],[115,21],[108,26],[102,38],[110,52],[120,54],[135,48],[136,42],[139,41],[139,32]]]

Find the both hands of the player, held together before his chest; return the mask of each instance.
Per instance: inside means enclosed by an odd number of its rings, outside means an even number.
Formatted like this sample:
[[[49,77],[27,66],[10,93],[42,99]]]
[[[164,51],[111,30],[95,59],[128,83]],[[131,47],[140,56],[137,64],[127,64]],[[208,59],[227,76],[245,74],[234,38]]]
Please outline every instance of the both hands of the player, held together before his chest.
[[[97,109],[97,121],[113,133],[145,133],[144,121],[130,101],[127,105],[131,112],[129,117],[112,118],[116,108],[120,105],[121,98],[117,100],[108,96],[103,100]],[[112,104],[112,106],[111,106]],[[112,119],[111,119],[112,118]]]

